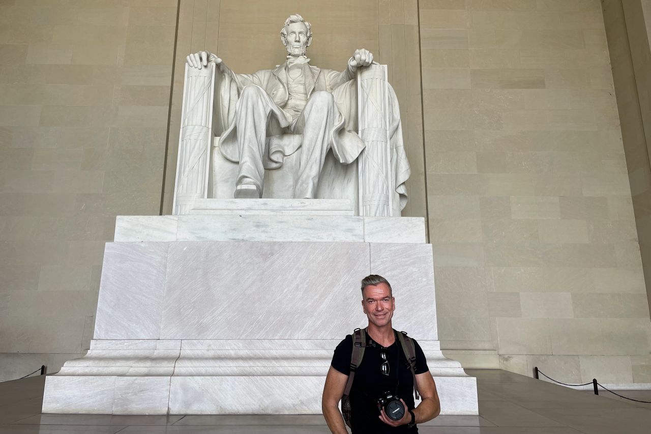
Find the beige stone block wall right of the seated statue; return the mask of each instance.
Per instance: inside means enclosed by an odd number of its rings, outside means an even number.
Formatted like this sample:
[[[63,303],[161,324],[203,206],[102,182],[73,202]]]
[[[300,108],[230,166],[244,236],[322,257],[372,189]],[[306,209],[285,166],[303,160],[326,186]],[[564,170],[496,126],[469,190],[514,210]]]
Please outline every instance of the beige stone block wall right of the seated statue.
[[[600,1],[419,5],[441,347],[466,366],[648,381]]]

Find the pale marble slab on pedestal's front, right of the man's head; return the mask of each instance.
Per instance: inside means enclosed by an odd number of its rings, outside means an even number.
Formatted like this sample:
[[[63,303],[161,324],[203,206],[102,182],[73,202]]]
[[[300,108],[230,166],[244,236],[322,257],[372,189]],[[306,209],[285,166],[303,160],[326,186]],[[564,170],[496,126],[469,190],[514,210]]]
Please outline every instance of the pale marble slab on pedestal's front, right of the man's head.
[[[434,268],[430,244],[370,244],[370,269],[391,282],[393,326],[417,340],[437,340]]]

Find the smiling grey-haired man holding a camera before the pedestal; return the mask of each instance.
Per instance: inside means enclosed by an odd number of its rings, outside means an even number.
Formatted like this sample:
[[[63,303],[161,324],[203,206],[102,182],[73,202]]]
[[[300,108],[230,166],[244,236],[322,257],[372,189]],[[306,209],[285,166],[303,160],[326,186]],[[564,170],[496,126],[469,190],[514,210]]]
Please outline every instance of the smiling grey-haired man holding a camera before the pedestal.
[[[361,289],[362,308],[368,317],[367,345],[362,362],[355,369],[350,391],[352,432],[417,433],[415,424],[431,420],[441,411],[436,384],[421,347],[413,340],[416,386],[422,399],[419,406],[414,408],[413,375],[397,339],[399,332],[395,332],[391,326],[396,308],[391,285],[382,276],[372,274],[362,280]],[[339,411],[339,401],[350,375],[352,351],[353,338],[348,335],[335,349],[324,386],[322,409],[327,425],[334,434],[347,432]],[[383,410],[378,411],[376,399],[387,391],[395,393],[406,408],[400,420],[391,420]]]

